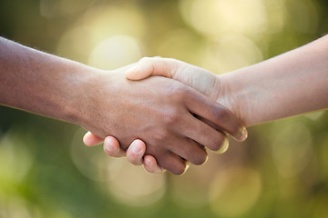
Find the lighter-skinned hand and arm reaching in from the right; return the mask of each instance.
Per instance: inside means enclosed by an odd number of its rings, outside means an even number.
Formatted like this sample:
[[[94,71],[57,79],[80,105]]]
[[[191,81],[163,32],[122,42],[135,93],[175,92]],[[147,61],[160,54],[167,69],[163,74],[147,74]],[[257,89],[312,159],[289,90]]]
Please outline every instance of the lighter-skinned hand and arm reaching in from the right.
[[[328,108],[328,36],[229,74],[214,75],[197,66],[167,58],[144,58],[127,77],[141,80],[160,75],[178,80],[228,107],[243,124],[251,126]],[[94,135],[88,134],[89,139]],[[95,143],[100,143],[97,139]],[[118,156],[118,144],[110,156]],[[135,148],[138,146],[138,149]],[[137,142],[127,153],[131,163],[142,163],[146,144]],[[133,153],[133,150],[141,152]],[[129,149],[128,149],[129,150]],[[120,153],[121,155],[122,153]],[[149,173],[160,173],[154,157],[146,155]]]

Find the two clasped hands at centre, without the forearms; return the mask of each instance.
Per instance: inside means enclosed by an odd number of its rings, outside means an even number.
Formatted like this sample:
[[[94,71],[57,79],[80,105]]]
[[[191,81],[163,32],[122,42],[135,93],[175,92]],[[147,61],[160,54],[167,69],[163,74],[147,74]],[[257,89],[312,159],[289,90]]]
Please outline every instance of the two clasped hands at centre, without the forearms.
[[[105,139],[104,150],[110,156],[127,154],[130,163],[144,163],[149,173],[165,169],[180,174],[189,162],[205,163],[206,148],[226,151],[228,134],[238,141],[247,138],[233,93],[218,76],[200,67],[153,57],[111,75],[121,93],[115,94],[108,108],[112,121],[106,129],[111,135]],[[103,91],[97,92],[106,99]],[[87,126],[94,134],[85,135],[85,144],[103,141],[97,134],[105,133],[97,127]]]

